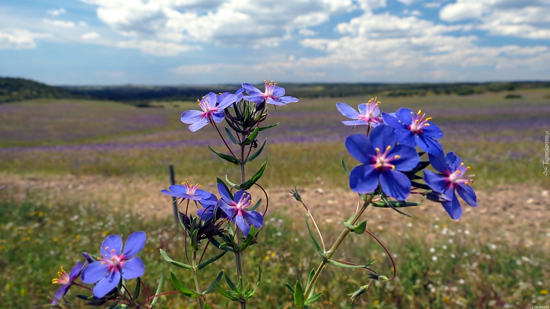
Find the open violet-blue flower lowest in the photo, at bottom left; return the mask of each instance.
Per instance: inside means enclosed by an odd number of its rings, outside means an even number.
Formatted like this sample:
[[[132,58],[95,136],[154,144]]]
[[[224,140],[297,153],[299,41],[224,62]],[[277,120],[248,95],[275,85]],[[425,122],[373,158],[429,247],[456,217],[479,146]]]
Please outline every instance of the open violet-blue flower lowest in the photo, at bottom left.
[[[108,236],[101,245],[99,261],[84,268],[82,281],[96,283],[94,296],[103,297],[117,287],[120,277],[125,280],[138,278],[145,273],[141,258],[136,255],[145,246],[145,232],[136,231],[126,240],[122,250],[122,238],[118,235]]]

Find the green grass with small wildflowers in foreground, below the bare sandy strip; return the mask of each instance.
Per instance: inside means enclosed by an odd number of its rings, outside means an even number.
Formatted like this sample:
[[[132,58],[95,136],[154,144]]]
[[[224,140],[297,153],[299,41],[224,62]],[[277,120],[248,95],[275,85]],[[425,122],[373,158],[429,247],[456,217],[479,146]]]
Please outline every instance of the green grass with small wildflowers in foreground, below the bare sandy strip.
[[[158,249],[165,250],[174,260],[184,261],[183,233],[175,228],[172,218],[145,218],[118,209],[92,205],[55,205],[38,196],[16,204],[2,196],[0,202],[0,307],[37,308],[48,302],[58,286],[51,284],[59,267],[70,269],[83,261],[82,251],[98,253],[106,235],[123,238],[136,230],[144,230],[148,240],[140,257],[146,264],[143,279],[153,293],[161,267],[173,271],[184,285],[193,287],[189,271],[164,262]],[[298,208],[297,208],[298,209]],[[388,210],[391,211],[391,210]],[[300,211],[301,213],[301,211]],[[365,218],[368,218],[368,209]],[[298,216],[300,217],[300,214]],[[273,219],[271,219],[273,218]],[[278,223],[277,219],[282,219]],[[398,277],[393,282],[373,285],[367,293],[350,305],[346,294],[368,283],[366,275],[356,269],[328,265],[321,275],[318,290],[324,291],[315,308],[505,308],[548,305],[545,290],[550,283],[550,255],[537,244],[526,250],[520,245],[483,235],[483,227],[443,219],[428,222],[410,219],[411,225],[373,230],[395,256]],[[343,227],[324,225],[328,245]],[[466,231],[469,230],[469,231]],[[320,262],[302,220],[266,216],[259,244],[244,253],[247,282],[257,276],[262,267],[262,282],[250,308],[290,308],[293,302],[283,282],[304,280]],[[489,232],[491,233],[491,232]],[[521,235],[518,235],[518,244]],[[491,239],[492,238],[492,239]],[[498,238],[500,239],[500,238]],[[210,249],[210,255],[217,254]],[[207,254],[208,256],[208,254]],[[375,241],[364,235],[350,235],[337,258],[357,263],[378,260],[374,268],[387,277],[392,269],[388,257]],[[437,258],[435,258],[437,257]],[[226,269],[234,278],[234,260],[224,256],[200,271],[200,284],[210,285],[220,271]],[[133,284],[133,283],[130,283]],[[174,290],[166,282],[163,291]],[[76,294],[85,290],[74,287],[68,300],[74,306],[82,304]],[[217,293],[208,295],[213,308],[237,308]],[[194,300],[183,295],[162,297],[160,304],[169,308],[194,308]]]

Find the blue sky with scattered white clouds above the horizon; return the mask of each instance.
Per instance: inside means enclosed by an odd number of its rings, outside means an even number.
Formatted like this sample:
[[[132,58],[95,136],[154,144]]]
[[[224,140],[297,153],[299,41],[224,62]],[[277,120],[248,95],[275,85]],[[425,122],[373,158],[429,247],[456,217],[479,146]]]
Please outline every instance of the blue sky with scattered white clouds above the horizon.
[[[550,80],[550,0],[2,0],[50,85]]]

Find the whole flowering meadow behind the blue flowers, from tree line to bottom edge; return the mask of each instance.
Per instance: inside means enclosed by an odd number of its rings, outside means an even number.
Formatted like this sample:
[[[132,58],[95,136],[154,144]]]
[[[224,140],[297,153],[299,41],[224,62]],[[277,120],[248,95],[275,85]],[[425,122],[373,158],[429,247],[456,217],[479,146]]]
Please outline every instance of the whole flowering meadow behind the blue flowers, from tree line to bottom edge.
[[[508,94],[520,97],[504,98]],[[353,304],[346,294],[366,284],[361,271],[328,267],[319,288],[319,308],[530,308],[550,305],[550,181],[542,174],[544,133],[550,129],[550,89],[479,95],[381,97],[381,109],[422,109],[445,133],[443,146],[471,165],[480,206],[465,207],[459,221],[441,206],[407,209],[412,219],[390,209],[367,209],[368,227],[388,245],[397,280],[372,286]],[[263,269],[252,308],[290,308],[283,282],[304,280],[318,258],[302,219],[304,210],[289,197],[298,186],[318,217],[328,241],[339,233],[355,195],[340,165],[343,140],[360,131],[340,123],[335,102],[356,106],[370,97],[306,98],[270,108],[269,122],[281,123],[260,135],[269,157],[261,183],[270,193],[259,244],[245,256],[249,278]],[[179,115],[193,102],[153,102],[139,108],[117,102],[33,100],[0,104],[0,308],[35,308],[47,303],[59,266],[69,268],[82,251],[96,252],[108,234],[148,235],[142,254],[144,281],[155,290],[164,262],[158,248],[183,259],[183,231],[175,227],[169,198],[158,191],[173,164],[177,181],[186,179],[215,191],[216,176],[237,178],[238,169],[217,160],[205,144],[223,150],[217,132],[191,133]],[[263,161],[263,160],[258,160]],[[258,162],[257,164],[260,164]],[[258,166],[251,164],[250,170]],[[251,191],[252,196],[260,194]],[[419,201],[422,201],[419,198]],[[299,249],[298,249],[299,248]],[[350,261],[378,260],[392,274],[386,253],[373,240],[353,237],[338,251]],[[217,268],[232,268],[224,257]],[[204,269],[210,284],[216,273]],[[169,283],[164,291],[171,290]],[[75,293],[69,293],[74,297]],[[221,296],[210,304],[228,308]],[[160,302],[193,308],[184,296]]]

